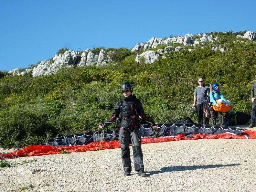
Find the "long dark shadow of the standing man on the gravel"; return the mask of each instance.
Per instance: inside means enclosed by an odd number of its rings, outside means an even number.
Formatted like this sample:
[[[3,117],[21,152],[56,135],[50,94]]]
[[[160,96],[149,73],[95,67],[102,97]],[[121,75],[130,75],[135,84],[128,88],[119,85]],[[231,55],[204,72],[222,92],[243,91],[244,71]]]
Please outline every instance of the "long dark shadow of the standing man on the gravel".
[[[196,170],[196,169],[211,169],[211,168],[218,168],[218,167],[232,167],[238,166],[241,164],[228,164],[228,165],[195,165],[195,166],[173,166],[173,167],[163,167],[159,171],[151,171],[146,172],[148,176],[155,175],[159,173],[171,172],[171,171],[187,171],[187,170]]]

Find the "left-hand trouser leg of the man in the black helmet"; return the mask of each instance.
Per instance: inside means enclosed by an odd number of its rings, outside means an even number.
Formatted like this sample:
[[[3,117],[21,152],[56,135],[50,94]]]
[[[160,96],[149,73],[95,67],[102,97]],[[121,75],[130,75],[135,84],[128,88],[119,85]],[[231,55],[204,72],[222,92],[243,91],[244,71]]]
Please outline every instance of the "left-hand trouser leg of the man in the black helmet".
[[[121,156],[122,156],[124,172],[132,171],[129,141],[130,141],[130,133],[125,130],[120,129],[119,130],[119,143],[120,143],[121,151],[122,151]]]

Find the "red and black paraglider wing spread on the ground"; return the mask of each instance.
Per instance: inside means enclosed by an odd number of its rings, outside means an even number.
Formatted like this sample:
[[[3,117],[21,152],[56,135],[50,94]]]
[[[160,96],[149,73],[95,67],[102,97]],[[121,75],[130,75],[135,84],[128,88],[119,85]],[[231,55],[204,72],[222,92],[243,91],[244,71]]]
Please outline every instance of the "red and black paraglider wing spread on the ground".
[[[140,128],[142,144],[195,139],[256,139],[256,131],[192,123],[158,123],[158,128],[143,124]],[[97,131],[59,137],[41,145],[0,154],[0,159],[39,156],[68,152],[85,152],[120,148],[118,131]]]

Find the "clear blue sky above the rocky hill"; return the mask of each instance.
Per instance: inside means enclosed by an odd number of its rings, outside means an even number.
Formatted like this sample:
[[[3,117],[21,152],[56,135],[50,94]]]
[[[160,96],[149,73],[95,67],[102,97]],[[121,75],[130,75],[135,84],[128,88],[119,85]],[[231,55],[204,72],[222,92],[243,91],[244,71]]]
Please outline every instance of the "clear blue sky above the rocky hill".
[[[133,48],[152,37],[256,31],[252,2],[12,0],[0,6],[0,70],[28,68],[61,48]]]

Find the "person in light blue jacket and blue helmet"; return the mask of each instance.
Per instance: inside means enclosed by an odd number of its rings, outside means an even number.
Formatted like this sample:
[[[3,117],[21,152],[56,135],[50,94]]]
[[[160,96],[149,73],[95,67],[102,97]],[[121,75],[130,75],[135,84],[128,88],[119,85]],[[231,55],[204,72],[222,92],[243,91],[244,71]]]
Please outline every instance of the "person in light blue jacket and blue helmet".
[[[224,100],[226,103],[226,107],[228,106],[228,103],[226,101],[226,99],[224,98],[224,96],[222,95],[222,93],[219,91],[219,84],[218,83],[213,83],[212,84],[212,89],[213,91],[210,92],[209,96],[210,96],[210,102],[212,103],[209,111],[210,111],[210,115],[211,115],[211,121],[212,121],[212,125],[216,126],[216,118],[217,116],[219,117],[219,126],[224,127],[225,126],[225,122],[224,122],[224,117],[222,112],[218,112],[218,111],[214,111],[212,106],[213,104],[216,105],[216,107],[219,107],[219,104],[216,102],[216,100],[218,99],[222,99]]]

